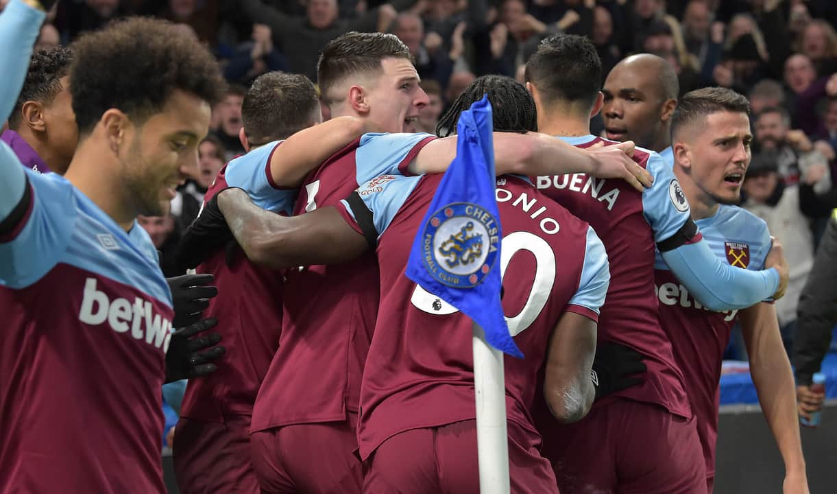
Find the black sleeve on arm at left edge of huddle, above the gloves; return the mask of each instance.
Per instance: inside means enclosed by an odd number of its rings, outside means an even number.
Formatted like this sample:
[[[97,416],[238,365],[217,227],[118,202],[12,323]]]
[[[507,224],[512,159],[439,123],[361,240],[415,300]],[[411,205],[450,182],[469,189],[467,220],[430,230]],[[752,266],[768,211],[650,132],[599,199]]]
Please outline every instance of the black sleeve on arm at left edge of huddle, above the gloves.
[[[178,269],[194,269],[230,242],[235,243],[227,220],[223,218],[221,208],[218,208],[218,196],[224,190],[227,189],[219,190],[203,205],[201,214],[183,234],[175,254]]]

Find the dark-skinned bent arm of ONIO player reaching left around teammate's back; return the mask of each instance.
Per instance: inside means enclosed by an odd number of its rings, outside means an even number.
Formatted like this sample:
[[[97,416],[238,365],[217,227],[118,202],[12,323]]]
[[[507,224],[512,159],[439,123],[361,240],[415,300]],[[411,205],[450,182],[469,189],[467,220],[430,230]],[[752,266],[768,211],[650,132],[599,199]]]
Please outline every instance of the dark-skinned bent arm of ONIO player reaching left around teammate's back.
[[[257,265],[340,264],[369,248],[364,236],[330,206],[289,218],[259,208],[239,188],[228,188],[218,193],[218,208],[244,254]]]

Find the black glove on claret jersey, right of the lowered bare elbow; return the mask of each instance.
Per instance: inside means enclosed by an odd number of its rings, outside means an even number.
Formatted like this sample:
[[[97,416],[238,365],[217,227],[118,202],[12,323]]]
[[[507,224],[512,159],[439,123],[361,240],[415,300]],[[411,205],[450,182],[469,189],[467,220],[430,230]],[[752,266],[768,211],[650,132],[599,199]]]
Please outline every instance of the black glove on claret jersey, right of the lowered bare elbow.
[[[646,370],[648,368],[642,362],[642,354],[633,348],[614,342],[599,343],[596,357],[593,358],[593,370],[590,372],[596,388],[596,399],[642,383],[642,376],[636,374]]]

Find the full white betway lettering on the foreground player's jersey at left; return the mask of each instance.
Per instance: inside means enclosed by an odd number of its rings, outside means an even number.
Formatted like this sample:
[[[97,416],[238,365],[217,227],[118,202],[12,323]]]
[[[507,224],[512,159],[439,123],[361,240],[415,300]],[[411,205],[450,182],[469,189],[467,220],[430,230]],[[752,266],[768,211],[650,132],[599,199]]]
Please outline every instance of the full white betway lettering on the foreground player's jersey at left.
[[[133,303],[126,298],[113,301],[104,291],[96,290],[95,278],[85,280],[85,294],[81,301],[79,321],[90,326],[105,322],[116,332],[128,332],[137,340],[145,339],[149,345],[168,351],[172,337],[172,322],[154,313],[150,301],[135,297]]]

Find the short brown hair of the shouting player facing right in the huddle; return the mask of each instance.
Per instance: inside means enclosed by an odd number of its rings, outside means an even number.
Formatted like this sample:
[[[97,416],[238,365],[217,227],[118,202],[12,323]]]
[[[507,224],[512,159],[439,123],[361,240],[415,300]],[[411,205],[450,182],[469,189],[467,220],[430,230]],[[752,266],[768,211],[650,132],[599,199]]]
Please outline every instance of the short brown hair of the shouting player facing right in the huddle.
[[[317,61],[317,83],[321,98],[329,105],[329,91],[341,80],[358,73],[378,74],[386,58],[412,60],[410,49],[394,34],[357,33],[341,34],[322,49]]]

